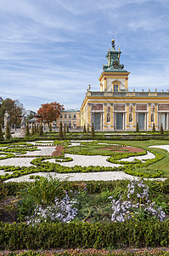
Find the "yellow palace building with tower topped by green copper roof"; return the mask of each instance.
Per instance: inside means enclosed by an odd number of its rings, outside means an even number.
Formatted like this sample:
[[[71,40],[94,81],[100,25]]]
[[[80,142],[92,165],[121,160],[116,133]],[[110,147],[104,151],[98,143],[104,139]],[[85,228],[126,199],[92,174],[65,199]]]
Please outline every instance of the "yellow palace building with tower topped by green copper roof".
[[[97,131],[140,131],[169,129],[169,90],[128,91],[129,72],[120,62],[121,49],[112,49],[106,55],[107,65],[99,77],[100,90],[88,86],[80,110],[81,126],[94,125]]]

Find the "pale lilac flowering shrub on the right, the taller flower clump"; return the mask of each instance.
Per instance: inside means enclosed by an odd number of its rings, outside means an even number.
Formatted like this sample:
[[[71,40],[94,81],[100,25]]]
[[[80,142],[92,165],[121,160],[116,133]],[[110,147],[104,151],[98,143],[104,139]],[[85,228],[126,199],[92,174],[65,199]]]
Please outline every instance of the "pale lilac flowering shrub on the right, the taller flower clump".
[[[111,196],[109,197],[112,198]],[[112,216],[113,222],[125,222],[127,219],[149,220],[165,218],[165,212],[162,207],[157,207],[155,202],[149,199],[149,187],[143,180],[132,181],[127,185],[127,201],[112,200]]]

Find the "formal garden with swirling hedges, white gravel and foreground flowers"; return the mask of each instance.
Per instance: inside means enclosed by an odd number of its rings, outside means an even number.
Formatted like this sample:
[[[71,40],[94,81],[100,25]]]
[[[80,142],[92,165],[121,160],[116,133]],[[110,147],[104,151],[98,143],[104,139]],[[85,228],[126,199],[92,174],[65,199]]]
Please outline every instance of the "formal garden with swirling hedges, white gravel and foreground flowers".
[[[168,255],[168,166],[167,134],[2,141],[1,254]]]

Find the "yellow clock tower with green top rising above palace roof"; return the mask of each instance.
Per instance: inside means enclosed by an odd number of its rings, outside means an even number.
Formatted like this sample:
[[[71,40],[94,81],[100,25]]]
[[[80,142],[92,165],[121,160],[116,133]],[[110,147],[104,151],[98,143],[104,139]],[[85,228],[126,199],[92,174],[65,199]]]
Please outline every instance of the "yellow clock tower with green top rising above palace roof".
[[[101,91],[127,91],[128,75],[124,65],[120,63],[121,49],[115,50],[115,40],[111,41],[112,49],[107,55],[107,65],[103,66],[103,72],[99,77]]]

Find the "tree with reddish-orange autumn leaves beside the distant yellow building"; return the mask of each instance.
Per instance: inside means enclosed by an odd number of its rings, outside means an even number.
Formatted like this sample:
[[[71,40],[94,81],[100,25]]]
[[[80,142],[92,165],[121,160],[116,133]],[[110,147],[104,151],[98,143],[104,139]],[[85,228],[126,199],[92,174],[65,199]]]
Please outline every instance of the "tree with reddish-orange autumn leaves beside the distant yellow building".
[[[64,106],[60,105],[57,102],[51,102],[42,104],[41,108],[37,111],[37,114],[39,116],[42,116],[40,118],[41,121],[47,121],[48,127],[50,123],[53,123],[54,120],[59,118],[60,112],[64,111]]]

